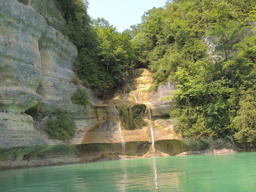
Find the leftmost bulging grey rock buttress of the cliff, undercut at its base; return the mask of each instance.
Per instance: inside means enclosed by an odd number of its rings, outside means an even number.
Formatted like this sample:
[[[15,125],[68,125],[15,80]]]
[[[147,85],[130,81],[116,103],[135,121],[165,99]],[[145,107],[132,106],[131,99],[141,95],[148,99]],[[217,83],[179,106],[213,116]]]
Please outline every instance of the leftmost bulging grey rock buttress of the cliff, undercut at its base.
[[[17,0],[0,2],[4,18],[0,35],[1,109],[24,112],[40,101],[42,80],[38,41],[48,26],[44,17]]]

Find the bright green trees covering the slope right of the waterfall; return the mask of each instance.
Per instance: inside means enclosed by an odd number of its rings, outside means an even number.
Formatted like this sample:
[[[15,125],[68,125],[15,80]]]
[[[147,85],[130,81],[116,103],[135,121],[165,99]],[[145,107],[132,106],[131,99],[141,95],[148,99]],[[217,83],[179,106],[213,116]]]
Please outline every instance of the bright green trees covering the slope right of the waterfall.
[[[245,26],[255,22],[255,10],[253,0],[169,1],[132,26],[140,65],[156,84],[178,83],[168,99],[175,99],[170,115],[184,137],[255,143],[255,28]],[[214,52],[207,52],[206,37]]]

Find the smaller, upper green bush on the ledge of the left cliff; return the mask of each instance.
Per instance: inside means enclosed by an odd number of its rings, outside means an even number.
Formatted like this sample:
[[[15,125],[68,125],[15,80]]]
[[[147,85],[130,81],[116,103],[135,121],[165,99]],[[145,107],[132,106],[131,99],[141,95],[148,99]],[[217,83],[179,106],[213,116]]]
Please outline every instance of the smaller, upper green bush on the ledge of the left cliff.
[[[85,89],[83,89],[81,86],[77,85],[76,87],[77,91],[74,92],[71,96],[71,101],[74,104],[80,104],[80,105],[89,105],[91,104],[88,100],[88,93]]]

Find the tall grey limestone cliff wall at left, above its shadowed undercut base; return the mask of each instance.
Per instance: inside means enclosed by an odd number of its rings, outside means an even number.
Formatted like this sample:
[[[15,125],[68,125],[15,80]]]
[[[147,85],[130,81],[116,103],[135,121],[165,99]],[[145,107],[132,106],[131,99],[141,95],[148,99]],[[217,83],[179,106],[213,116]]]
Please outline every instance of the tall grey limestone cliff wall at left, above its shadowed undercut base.
[[[76,86],[69,81],[74,75],[77,48],[60,31],[47,25],[45,18],[52,20],[52,26],[65,23],[53,1],[31,0],[25,5],[17,0],[3,0],[0,7],[4,14],[0,20],[0,108],[4,112],[1,140],[8,147],[17,147],[22,139],[24,142],[18,146],[46,144],[34,129],[32,117],[24,112],[38,105],[41,113],[72,106],[70,96]],[[34,8],[40,13],[44,10],[45,18]],[[92,95],[90,98],[92,103],[98,102]],[[87,113],[87,109],[73,107],[74,113]],[[17,134],[13,136],[15,129]],[[1,142],[0,148],[6,145]]]

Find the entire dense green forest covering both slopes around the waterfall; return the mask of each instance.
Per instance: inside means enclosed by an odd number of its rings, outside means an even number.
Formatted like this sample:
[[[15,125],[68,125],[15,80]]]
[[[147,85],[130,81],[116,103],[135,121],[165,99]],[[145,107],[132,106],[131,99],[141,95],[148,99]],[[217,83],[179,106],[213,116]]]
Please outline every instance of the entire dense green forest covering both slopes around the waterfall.
[[[254,0],[173,0],[144,13],[122,33],[92,20],[88,2],[57,0],[60,30],[78,48],[77,76],[100,97],[129,68],[149,68],[157,85],[177,82],[170,100],[175,130],[184,137],[231,135],[256,141],[256,6]]]

